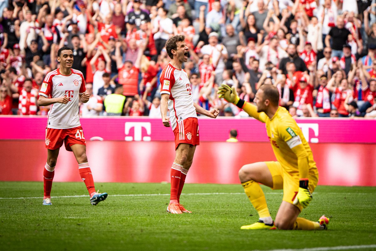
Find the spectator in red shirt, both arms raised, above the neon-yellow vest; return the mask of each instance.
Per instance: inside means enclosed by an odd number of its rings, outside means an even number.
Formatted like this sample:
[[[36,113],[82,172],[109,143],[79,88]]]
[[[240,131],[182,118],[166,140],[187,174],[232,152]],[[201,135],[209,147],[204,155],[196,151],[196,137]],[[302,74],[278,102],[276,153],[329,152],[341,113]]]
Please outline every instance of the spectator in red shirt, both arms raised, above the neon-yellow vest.
[[[123,62],[123,57],[120,54],[121,43],[117,42],[115,45],[116,66],[118,68],[118,82],[123,85],[123,95],[127,97],[134,97],[138,94],[138,75],[140,71],[141,58],[144,54],[144,46],[140,46],[135,63],[132,61]]]

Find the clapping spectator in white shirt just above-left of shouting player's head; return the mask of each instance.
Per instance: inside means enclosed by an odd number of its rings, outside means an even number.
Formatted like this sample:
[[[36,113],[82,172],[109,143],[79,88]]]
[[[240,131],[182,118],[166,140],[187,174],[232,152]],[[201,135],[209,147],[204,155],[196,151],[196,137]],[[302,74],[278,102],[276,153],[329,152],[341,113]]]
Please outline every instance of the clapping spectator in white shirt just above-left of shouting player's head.
[[[152,33],[154,34],[155,48],[157,54],[161,54],[161,50],[165,46],[166,41],[173,34],[173,22],[167,17],[167,10],[158,8],[158,15],[152,22]]]

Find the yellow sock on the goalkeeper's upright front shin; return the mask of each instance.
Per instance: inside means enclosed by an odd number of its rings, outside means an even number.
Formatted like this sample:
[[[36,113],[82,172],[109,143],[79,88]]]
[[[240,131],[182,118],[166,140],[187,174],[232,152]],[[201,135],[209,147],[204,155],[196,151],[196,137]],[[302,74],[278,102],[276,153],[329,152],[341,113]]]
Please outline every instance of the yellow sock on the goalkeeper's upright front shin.
[[[262,192],[260,185],[253,180],[243,182],[241,185],[243,186],[244,192],[248,196],[253,207],[258,212],[259,218],[270,217],[265,195],[264,192]]]

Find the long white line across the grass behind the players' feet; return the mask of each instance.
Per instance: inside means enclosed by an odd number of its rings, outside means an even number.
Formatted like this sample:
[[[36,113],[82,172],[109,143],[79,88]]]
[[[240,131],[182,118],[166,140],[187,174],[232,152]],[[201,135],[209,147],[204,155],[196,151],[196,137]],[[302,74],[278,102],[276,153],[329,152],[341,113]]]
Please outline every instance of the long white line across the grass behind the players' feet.
[[[282,192],[280,193],[275,193],[275,192],[269,192],[265,194],[283,194]],[[315,193],[314,193],[315,194]],[[344,194],[348,195],[351,193],[320,193],[320,194]],[[356,195],[365,195],[367,193],[357,193]],[[244,193],[182,193],[182,195],[244,195]],[[71,195],[71,196],[52,196],[52,198],[76,198],[76,197],[87,197],[88,195]],[[111,197],[117,197],[117,196],[122,196],[122,197],[138,197],[138,196],[170,196],[169,193],[152,193],[152,194],[115,194],[111,195]],[[0,199],[41,199],[43,197],[18,197],[18,198],[0,198]]]

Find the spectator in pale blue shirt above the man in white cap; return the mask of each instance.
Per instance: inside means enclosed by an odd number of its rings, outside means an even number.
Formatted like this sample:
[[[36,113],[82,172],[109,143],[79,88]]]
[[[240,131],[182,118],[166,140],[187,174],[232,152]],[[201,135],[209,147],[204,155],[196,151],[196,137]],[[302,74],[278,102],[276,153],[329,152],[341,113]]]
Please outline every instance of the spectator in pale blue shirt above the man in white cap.
[[[212,3],[212,10],[206,16],[205,27],[210,27],[212,31],[220,33],[221,37],[223,37],[226,34],[225,21],[226,17],[223,14],[221,2],[215,0]]]

